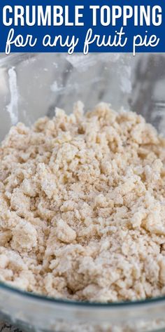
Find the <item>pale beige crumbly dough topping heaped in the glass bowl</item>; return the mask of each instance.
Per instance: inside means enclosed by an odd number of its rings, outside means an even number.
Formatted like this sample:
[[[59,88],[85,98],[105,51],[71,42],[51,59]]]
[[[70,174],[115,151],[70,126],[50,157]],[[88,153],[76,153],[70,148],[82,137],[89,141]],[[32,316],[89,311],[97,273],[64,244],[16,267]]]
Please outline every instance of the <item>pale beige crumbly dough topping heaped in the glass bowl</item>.
[[[133,112],[10,129],[0,149],[0,279],[74,300],[165,294],[165,139]]]

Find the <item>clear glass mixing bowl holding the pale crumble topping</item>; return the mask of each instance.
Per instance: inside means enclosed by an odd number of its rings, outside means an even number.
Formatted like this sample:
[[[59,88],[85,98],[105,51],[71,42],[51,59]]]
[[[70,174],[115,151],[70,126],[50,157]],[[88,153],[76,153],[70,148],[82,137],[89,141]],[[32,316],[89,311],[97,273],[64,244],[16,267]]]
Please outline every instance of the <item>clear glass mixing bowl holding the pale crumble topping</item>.
[[[165,55],[0,55],[0,139],[11,125],[68,113],[81,100],[132,109],[165,133]],[[1,217],[1,216],[0,216]],[[0,317],[24,331],[165,331],[165,298],[134,303],[76,303],[0,284]]]

